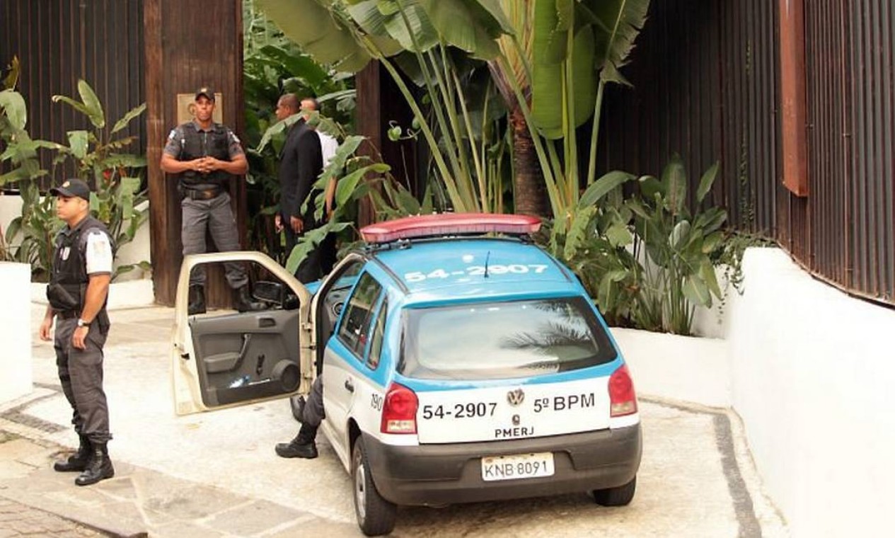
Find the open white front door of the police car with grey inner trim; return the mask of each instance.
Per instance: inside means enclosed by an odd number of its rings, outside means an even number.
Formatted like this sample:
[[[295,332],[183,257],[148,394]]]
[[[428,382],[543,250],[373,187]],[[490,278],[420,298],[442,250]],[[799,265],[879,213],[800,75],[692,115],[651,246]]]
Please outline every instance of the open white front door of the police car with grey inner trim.
[[[246,269],[254,266],[251,269],[269,275],[255,282],[252,290],[254,300],[266,308],[189,315],[192,269],[225,261],[242,262]],[[175,413],[198,413],[307,393],[315,374],[310,307],[311,295],[302,283],[261,252],[184,257],[171,336]]]

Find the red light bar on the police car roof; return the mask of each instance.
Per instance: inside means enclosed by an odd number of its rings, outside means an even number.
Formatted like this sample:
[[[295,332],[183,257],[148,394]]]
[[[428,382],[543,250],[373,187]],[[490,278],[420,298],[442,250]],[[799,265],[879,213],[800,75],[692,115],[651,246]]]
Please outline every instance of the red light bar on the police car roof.
[[[499,233],[509,235],[533,234],[541,228],[541,219],[527,215],[498,213],[442,213],[419,217],[396,218],[361,228],[367,243],[389,243],[397,239]]]

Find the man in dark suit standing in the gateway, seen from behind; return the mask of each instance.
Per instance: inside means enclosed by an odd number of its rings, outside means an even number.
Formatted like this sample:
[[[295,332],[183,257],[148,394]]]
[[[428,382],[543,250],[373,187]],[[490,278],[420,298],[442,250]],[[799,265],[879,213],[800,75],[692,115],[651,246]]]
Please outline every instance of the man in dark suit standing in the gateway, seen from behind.
[[[301,111],[300,101],[287,93],[277,102],[277,119],[282,121]],[[286,230],[286,252],[292,252],[298,238],[317,227],[314,219],[313,197],[308,209],[302,212],[302,204],[311,194],[311,187],[323,170],[323,154],[317,132],[298,119],[289,127],[286,143],[280,152],[279,182],[280,210],[276,217],[277,230]],[[312,282],[322,276],[320,249],[315,248],[295,271],[301,282]]]

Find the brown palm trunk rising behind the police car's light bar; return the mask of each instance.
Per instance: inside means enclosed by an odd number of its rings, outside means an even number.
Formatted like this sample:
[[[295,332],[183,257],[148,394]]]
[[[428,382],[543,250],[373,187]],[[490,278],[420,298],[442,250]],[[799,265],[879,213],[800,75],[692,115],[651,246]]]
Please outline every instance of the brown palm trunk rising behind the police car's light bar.
[[[509,114],[509,123],[513,129],[513,202],[516,213],[550,217],[547,204],[547,185],[544,184],[538,157],[534,151],[532,132],[525,124],[525,118],[519,107],[514,107]]]

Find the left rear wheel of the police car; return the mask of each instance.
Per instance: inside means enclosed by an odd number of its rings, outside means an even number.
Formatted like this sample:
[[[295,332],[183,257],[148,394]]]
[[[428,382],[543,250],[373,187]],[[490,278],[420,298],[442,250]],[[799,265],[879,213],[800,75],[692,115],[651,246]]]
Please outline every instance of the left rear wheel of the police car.
[[[388,534],[395,528],[397,507],[379,495],[370,462],[363,448],[363,440],[358,438],[354,443],[351,456],[351,482],[354,491],[354,516],[357,525],[367,536]]]

